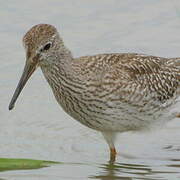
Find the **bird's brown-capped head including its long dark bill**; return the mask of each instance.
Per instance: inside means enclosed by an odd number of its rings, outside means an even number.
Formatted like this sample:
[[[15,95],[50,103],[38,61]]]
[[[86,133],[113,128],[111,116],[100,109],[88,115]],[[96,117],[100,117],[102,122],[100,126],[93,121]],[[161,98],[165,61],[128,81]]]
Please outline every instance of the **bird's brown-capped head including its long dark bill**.
[[[25,86],[27,80],[40,65],[48,65],[53,52],[63,46],[56,28],[49,24],[33,26],[23,37],[23,45],[26,51],[26,63],[23,74],[9,104],[9,110],[14,104]]]

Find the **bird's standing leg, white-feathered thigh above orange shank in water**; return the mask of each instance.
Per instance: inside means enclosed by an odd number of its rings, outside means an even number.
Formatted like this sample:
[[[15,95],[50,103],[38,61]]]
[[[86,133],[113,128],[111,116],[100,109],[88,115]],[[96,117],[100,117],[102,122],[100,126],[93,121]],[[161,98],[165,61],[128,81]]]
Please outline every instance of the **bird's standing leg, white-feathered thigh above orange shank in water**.
[[[115,160],[116,160],[116,148],[114,146],[114,140],[115,140],[115,133],[113,132],[109,132],[109,131],[106,131],[106,132],[102,132],[102,135],[104,136],[106,142],[108,143],[109,145],[109,148],[110,148],[110,162],[111,163],[114,163]]]

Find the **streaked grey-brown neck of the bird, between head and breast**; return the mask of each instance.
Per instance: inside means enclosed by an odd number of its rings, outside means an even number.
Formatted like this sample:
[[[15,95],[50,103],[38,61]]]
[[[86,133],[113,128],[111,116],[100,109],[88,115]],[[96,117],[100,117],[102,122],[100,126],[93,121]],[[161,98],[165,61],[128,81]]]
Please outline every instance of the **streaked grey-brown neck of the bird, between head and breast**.
[[[82,88],[81,80],[74,72],[73,61],[71,52],[64,49],[52,56],[49,65],[41,66],[56,98],[77,96],[76,92],[78,93],[79,88]]]

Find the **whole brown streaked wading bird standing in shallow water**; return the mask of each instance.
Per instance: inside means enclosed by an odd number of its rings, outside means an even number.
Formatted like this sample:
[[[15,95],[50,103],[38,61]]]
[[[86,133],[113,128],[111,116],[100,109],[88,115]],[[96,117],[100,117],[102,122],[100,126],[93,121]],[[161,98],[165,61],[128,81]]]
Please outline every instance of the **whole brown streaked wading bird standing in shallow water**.
[[[37,24],[23,37],[24,71],[9,104],[13,109],[26,82],[41,68],[62,109],[100,131],[116,159],[117,133],[149,130],[175,117],[180,58],[138,53],[73,57],[56,27]]]

